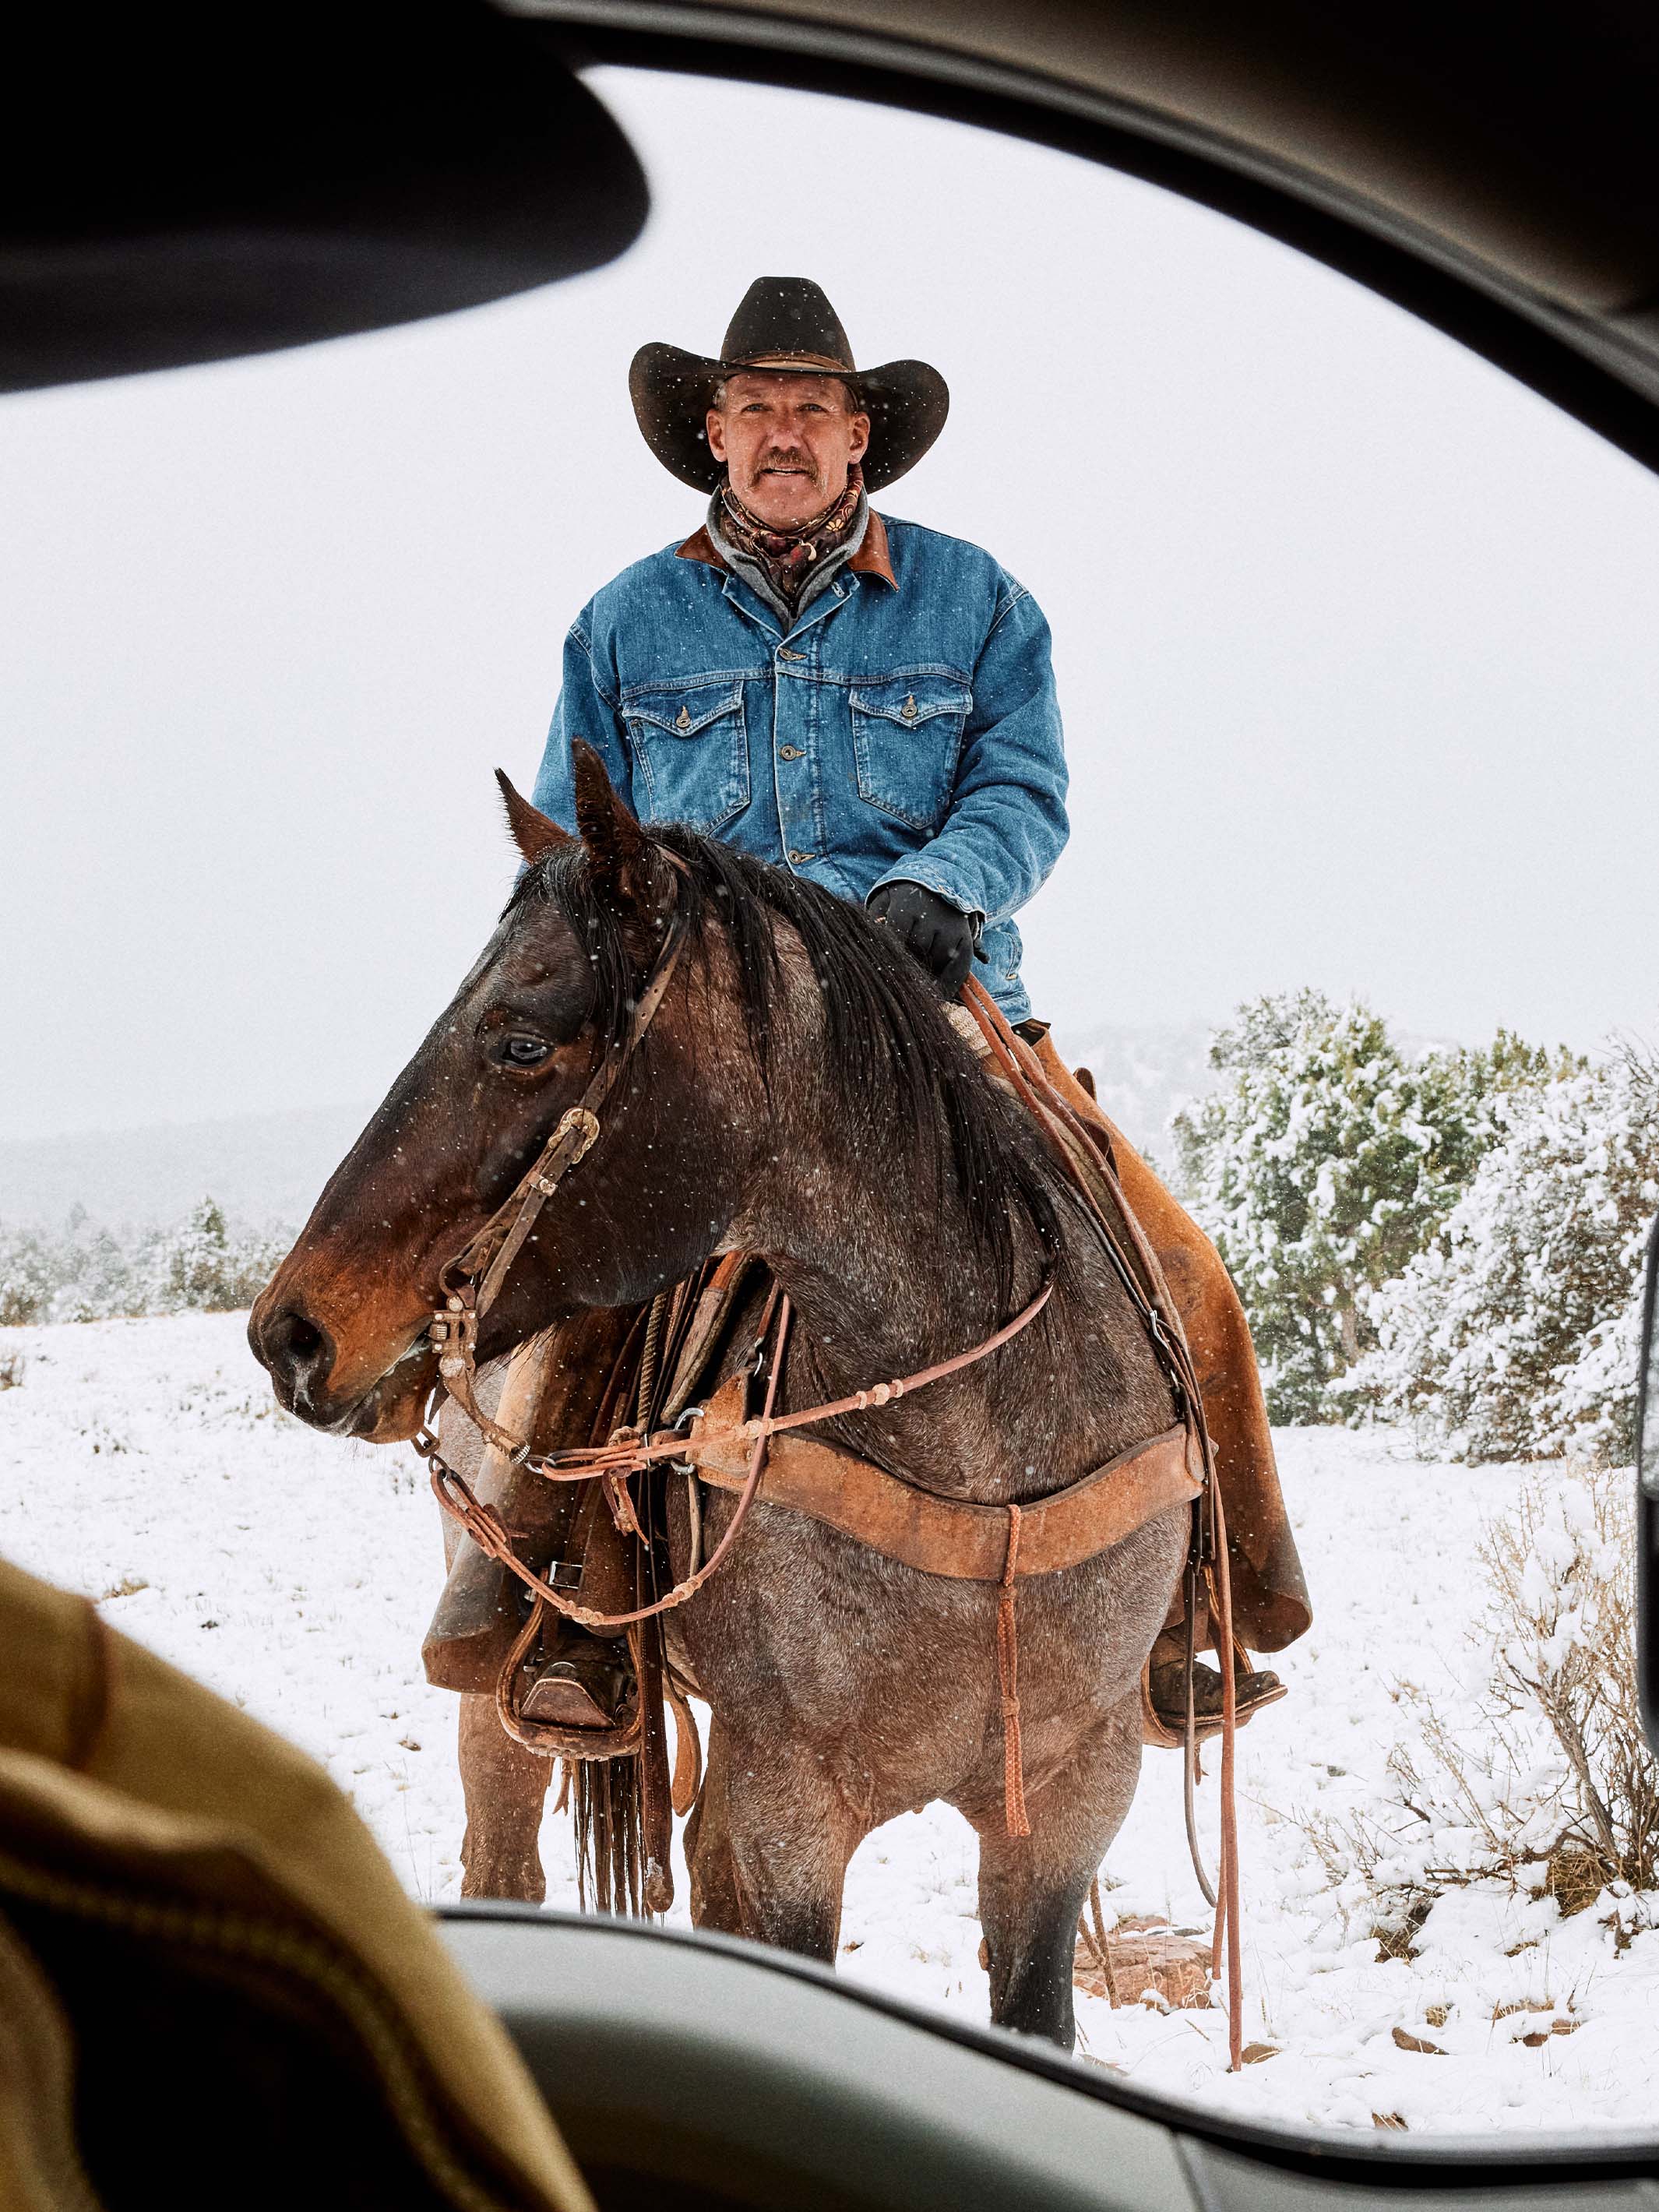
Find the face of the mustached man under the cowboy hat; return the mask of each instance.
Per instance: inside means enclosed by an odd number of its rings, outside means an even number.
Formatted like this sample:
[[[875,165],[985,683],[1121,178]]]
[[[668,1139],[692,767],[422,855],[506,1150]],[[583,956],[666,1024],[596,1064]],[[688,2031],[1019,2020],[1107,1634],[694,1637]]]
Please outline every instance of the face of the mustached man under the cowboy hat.
[[[708,409],[708,451],[732,491],[774,531],[792,531],[834,507],[847,469],[869,445],[869,416],[854,414],[838,376],[739,369],[726,400]]]

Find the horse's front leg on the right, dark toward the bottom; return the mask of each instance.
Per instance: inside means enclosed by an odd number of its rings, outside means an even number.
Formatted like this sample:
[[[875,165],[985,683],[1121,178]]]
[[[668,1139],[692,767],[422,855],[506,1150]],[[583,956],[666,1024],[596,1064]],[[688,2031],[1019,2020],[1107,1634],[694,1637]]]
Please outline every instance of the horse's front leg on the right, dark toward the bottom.
[[[980,1927],[991,1955],[991,2020],[1044,2035],[1071,2051],[1071,1975],[1077,1916],[1088,1885],[1124,1825],[1141,1772],[1139,1686],[1088,1750],[1029,1798],[1031,1834],[1009,1836],[975,1807],[980,1832]]]

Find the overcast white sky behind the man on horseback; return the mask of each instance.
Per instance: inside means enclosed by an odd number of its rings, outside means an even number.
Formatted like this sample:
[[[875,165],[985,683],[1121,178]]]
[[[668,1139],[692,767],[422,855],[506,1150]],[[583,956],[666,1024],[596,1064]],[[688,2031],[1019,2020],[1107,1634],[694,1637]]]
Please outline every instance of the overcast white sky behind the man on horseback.
[[[1026,914],[1040,1011],[1316,982],[1416,1033],[1655,1026],[1659,482],[1108,170],[595,82],[655,188],[611,270],[0,403],[0,1135],[385,1091],[509,880],[489,770],[531,781],[564,628],[699,520],[628,358],[714,352],[757,274],[818,276],[860,358],[945,369],[949,429],[880,504],[1053,622],[1075,783]],[[710,188],[741,148],[748,201]]]

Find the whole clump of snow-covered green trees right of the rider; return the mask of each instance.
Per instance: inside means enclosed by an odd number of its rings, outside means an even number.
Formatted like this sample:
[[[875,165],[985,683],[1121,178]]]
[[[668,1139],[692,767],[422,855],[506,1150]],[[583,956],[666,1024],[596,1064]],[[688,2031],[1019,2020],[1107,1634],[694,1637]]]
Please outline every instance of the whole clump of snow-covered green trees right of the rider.
[[[1261,998],[1172,1121],[1281,1422],[1409,1422],[1462,1460],[1628,1460],[1659,1062],[1407,1055],[1363,1004]]]

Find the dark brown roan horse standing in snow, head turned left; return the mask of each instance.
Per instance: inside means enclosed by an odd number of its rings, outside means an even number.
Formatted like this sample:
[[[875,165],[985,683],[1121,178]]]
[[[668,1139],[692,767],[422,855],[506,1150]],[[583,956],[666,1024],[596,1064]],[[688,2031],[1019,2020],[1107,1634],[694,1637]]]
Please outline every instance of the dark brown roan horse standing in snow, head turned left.
[[[1006,1504],[1170,1427],[1170,1383],[1084,1206],[878,925],[684,827],[648,836],[582,745],[580,836],[511,787],[509,818],[529,865],[495,936],[252,1312],[290,1411],[374,1442],[420,1429],[438,1272],[626,1035],[679,900],[668,995],[489,1310],[480,1360],[745,1250],[794,1303],[781,1407],[805,1407],[980,1343],[1051,1279],[1013,1343],[830,1433],[942,1498]],[[732,1504],[703,1493],[710,1546]],[[1071,2046],[1077,1916],[1135,1794],[1141,1666],[1188,1526],[1161,1511],[1020,1584],[1031,1834],[1011,1836],[995,1586],[757,1504],[726,1568],[670,1615],[670,1652],[712,1712],[695,1920],[832,1962],[856,1845],[945,1798],[980,1838],[993,2020]],[[690,1544],[681,1506],[675,1575]],[[549,1761],[500,1730],[489,1747],[482,1705],[467,1699],[462,1723],[469,1887],[480,1863],[498,1885],[518,1865],[520,1893],[540,1896]]]

